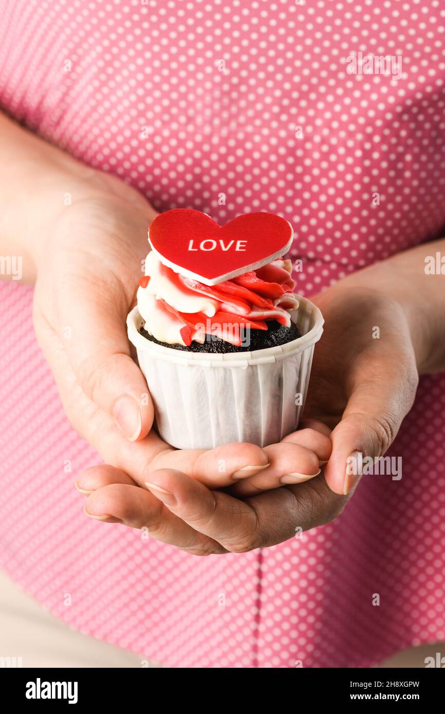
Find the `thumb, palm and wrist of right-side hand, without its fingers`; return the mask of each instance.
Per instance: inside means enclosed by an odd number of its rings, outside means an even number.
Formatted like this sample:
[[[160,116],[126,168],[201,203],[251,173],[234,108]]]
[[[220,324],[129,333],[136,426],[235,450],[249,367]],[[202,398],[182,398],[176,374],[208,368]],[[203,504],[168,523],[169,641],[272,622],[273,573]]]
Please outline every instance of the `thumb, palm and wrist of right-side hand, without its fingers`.
[[[353,488],[360,476],[354,465],[391,446],[414,402],[419,373],[445,369],[444,276],[425,270],[426,256],[444,249],[443,239],[421,244],[312,298],[325,329],[305,416],[333,429],[325,478],[335,493]]]

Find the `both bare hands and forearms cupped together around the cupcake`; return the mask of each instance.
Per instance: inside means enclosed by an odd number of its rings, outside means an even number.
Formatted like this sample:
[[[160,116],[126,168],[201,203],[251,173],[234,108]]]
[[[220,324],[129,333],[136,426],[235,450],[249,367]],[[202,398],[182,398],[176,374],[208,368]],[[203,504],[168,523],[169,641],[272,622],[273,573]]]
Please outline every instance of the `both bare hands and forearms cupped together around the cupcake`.
[[[156,213],[119,179],[4,117],[0,136],[0,250],[24,257],[24,278],[36,283],[36,336],[64,409],[105,461],[76,482],[86,515],[146,527],[196,555],[275,545],[336,518],[360,478],[347,473],[349,455],[383,455],[419,372],[445,368],[443,277],[424,273],[424,256],[444,251],[445,241],[311,298],[326,326],[299,431],[262,449],[177,451],[151,430],[153,405],[125,329]]]

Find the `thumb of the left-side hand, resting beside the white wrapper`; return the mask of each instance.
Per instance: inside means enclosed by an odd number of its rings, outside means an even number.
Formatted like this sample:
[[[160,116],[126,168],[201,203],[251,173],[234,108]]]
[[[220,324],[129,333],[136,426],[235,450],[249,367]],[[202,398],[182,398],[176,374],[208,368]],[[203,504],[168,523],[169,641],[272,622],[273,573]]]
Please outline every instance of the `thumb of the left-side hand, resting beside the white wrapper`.
[[[127,306],[117,297],[119,291],[119,284],[110,286],[97,278],[91,278],[87,291],[68,281],[59,291],[58,333],[86,396],[114,418],[129,441],[136,441],[149,433],[154,408],[144,376],[130,356]]]

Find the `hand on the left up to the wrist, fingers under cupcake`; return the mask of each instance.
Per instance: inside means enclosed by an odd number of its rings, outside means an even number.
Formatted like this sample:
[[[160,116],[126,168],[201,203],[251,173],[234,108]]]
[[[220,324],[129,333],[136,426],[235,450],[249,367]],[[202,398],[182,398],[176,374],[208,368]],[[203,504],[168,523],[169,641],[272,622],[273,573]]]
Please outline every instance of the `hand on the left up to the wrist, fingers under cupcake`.
[[[318,473],[331,443],[315,431],[266,453],[247,443],[177,451],[151,429],[154,408],[131,357],[126,315],[156,213],[119,179],[92,176],[51,224],[34,294],[36,336],[76,431],[144,489],[156,468],[179,469],[211,488],[236,484],[239,493]]]

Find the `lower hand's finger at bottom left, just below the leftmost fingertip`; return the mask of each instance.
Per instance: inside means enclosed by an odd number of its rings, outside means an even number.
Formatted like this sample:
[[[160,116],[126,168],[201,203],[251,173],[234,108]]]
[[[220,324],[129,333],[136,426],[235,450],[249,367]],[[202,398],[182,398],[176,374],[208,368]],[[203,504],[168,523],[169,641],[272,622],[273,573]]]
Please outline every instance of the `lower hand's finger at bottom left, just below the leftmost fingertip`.
[[[170,543],[196,555],[224,552],[219,543],[194,531],[194,528],[165,508],[159,499],[139,486],[125,483],[103,486],[91,493],[85,513],[106,523],[123,523],[130,528],[142,529],[162,543]]]

